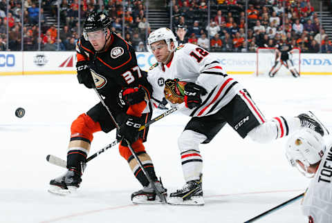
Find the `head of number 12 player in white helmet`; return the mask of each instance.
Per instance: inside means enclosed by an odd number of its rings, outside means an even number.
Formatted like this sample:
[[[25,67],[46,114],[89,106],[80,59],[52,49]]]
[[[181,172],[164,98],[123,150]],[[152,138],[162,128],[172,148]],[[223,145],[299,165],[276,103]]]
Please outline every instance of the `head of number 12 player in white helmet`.
[[[151,32],[147,39],[147,49],[154,54],[158,62],[163,64],[169,62],[177,47],[178,41],[169,28],[158,28]]]

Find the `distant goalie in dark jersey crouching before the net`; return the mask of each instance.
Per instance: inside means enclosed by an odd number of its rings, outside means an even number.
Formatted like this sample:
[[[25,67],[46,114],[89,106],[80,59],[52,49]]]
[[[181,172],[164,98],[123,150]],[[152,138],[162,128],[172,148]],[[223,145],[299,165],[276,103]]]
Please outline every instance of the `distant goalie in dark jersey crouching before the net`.
[[[275,65],[271,68],[270,72],[268,72],[270,77],[275,77],[275,74],[282,65],[291,71],[293,77],[299,77],[299,72],[295,69],[294,63],[289,57],[292,54],[291,50],[293,50],[293,46],[286,43],[280,43],[279,46],[277,46]]]

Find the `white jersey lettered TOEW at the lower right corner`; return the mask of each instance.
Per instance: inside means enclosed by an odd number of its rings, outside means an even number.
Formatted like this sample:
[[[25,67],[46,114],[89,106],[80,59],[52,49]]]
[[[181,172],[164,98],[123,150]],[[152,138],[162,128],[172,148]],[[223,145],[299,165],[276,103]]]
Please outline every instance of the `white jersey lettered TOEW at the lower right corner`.
[[[302,202],[304,215],[313,217],[313,223],[332,222],[332,142],[326,144],[326,151],[320,166],[311,180]]]

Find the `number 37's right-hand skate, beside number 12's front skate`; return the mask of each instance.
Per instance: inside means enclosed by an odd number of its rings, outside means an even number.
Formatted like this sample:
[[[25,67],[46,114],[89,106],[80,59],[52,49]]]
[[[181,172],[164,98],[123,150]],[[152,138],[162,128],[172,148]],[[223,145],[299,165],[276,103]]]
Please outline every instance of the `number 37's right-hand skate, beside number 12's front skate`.
[[[161,180],[156,181],[154,185],[162,196],[167,197],[167,189],[163,187]],[[131,194],[131,202],[133,202],[133,204],[160,204],[163,203],[164,200],[165,199],[160,200],[160,197],[158,197],[151,184]]]

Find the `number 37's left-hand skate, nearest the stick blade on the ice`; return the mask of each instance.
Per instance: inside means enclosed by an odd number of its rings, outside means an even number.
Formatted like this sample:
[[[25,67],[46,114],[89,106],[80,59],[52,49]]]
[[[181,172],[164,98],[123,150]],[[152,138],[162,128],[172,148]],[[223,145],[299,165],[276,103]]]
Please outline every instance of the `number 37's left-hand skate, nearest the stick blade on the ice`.
[[[49,193],[56,195],[68,195],[74,193],[77,188],[80,187],[82,182],[81,172],[77,171],[77,168],[68,168],[68,171],[64,175],[50,180]]]

